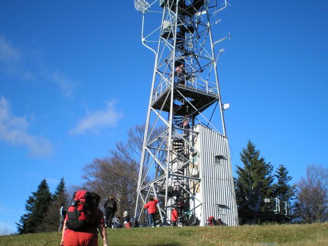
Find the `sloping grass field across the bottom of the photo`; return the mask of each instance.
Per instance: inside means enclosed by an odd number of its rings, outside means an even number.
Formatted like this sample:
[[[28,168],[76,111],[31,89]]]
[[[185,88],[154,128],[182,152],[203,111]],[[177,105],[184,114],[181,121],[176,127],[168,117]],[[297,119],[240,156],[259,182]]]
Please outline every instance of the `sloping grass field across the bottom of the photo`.
[[[0,245],[58,246],[60,233],[2,236]],[[240,227],[132,228],[107,231],[109,246],[328,245],[328,223]],[[99,236],[100,237],[100,236]],[[99,245],[103,243],[99,238]]]

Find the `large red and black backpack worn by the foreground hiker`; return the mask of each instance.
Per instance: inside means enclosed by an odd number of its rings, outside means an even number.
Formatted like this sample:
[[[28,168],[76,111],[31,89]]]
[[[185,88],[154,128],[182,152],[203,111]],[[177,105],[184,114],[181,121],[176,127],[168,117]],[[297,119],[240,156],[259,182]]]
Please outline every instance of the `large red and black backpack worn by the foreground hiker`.
[[[94,227],[90,224],[93,197],[88,191],[76,191],[67,211],[66,227],[73,231]]]

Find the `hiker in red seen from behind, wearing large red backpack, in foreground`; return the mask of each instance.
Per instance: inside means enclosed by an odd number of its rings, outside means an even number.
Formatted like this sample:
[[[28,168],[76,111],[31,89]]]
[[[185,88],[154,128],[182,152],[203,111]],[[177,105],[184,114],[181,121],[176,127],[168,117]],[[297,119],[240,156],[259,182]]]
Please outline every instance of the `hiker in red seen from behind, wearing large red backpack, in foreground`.
[[[98,208],[100,196],[94,192],[76,191],[64,221],[60,245],[97,246],[98,232],[108,246],[104,213]]]

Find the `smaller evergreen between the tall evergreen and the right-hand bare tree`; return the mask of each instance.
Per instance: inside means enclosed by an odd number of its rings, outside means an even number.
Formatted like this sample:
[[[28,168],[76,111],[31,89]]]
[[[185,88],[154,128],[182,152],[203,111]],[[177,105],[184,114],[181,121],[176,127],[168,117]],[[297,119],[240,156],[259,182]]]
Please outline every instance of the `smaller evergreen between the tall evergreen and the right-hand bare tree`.
[[[288,176],[288,170],[283,166],[279,165],[275,172],[277,183],[274,185],[274,197],[278,197],[280,201],[290,202],[295,195],[295,186],[291,186],[289,182],[292,180],[291,176]]]

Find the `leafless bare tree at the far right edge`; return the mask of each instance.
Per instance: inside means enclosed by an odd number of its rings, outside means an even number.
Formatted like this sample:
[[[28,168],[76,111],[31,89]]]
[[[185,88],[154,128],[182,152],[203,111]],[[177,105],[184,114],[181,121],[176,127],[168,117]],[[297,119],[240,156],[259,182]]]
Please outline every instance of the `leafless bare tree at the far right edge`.
[[[297,184],[296,215],[305,222],[328,220],[328,169],[310,165]]]

